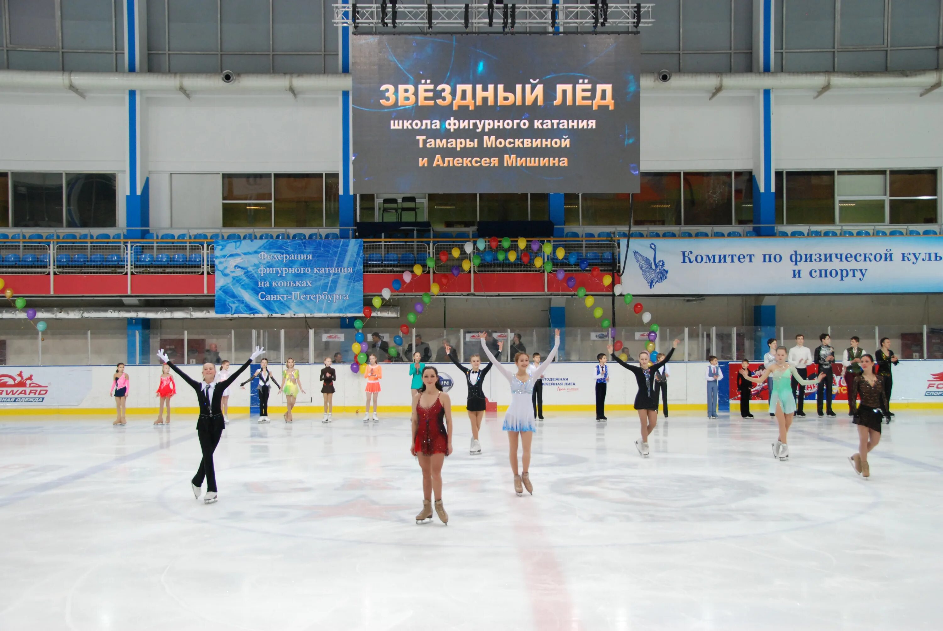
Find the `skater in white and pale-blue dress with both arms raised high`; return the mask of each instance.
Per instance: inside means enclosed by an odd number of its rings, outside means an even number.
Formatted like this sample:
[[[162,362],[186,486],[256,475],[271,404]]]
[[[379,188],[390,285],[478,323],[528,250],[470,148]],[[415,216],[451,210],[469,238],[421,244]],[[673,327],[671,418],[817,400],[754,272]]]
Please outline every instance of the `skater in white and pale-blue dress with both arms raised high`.
[[[533,495],[534,486],[530,481],[529,470],[530,447],[531,441],[534,440],[534,422],[536,419],[534,418],[531,395],[534,392],[534,386],[540,378],[540,375],[550,367],[551,362],[554,361],[554,357],[556,357],[556,349],[560,345],[560,329],[554,330],[554,350],[550,352],[547,359],[531,374],[527,374],[527,366],[530,363],[530,359],[525,353],[518,353],[514,356],[514,365],[517,371],[512,374],[491,354],[491,349],[488,348],[486,337],[486,333],[481,334],[481,347],[485,350],[485,355],[487,355],[488,360],[497,367],[498,372],[505,375],[507,383],[511,386],[511,405],[507,407],[505,423],[501,428],[507,432],[507,442],[510,447],[511,471],[514,472],[514,492],[516,492],[518,496],[521,496],[524,494],[523,489],[527,489],[527,492]],[[501,344],[498,346],[498,351],[501,351]],[[523,470],[520,475],[518,474],[519,438],[523,445]],[[523,484],[523,489],[521,488],[521,484]]]

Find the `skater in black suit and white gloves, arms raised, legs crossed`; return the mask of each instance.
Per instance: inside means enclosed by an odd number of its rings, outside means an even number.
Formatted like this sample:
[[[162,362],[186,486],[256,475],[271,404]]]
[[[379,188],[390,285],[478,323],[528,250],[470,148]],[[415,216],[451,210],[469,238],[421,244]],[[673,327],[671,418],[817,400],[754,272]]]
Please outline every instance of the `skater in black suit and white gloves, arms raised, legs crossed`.
[[[225,381],[216,381],[216,366],[208,362],[203,364],[203,381],[191,379],[190,375],[184,373],[174,365],[164,353],[164,349],[157,351],[157,357],[171,367],[174,373],[179,374],[180,378],[190,384],[196,392],[196,401],[200,406],[200,417],[196,422],[196,433],[200,439],[200,451],[203,452],[203,459],[200,460],[200,467],[196,470],[196,475],[190,480],[190,490],[193,496],[200,499],[200,493],[203,492],[203,478],[207,478],[207,494],[203,497],[204,504],[216,502],[216,470],[213,468],[213,452],[216,451],[216,445],[219,444],[223,436],[223,391],[236,381],[242,371],[249,368],[256,357],[265,352],[265,349],[256,346],[256,351],[251,357],[246,359],[239,370],[230,374]]]

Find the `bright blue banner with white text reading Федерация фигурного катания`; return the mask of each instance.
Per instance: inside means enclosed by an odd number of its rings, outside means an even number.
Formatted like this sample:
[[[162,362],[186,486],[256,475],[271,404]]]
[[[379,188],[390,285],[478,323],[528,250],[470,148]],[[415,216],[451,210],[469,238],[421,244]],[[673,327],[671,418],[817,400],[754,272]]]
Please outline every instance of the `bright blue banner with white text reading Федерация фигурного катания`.
[[[216,241],[216,312],[363,312],[363,241]]]

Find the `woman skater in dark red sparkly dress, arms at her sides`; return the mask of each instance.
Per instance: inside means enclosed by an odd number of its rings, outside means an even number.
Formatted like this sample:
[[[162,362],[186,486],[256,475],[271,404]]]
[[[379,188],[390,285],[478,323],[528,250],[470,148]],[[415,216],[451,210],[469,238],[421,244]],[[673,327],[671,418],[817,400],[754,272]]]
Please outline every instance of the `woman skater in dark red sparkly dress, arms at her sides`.
[[[422,511],[416,516],[416,523],[432,521],[435,492],[438,519],[448,525],[449,514],[442,506],[442,462],[452,454],[452,401],[438,384],[438,370],[429,366],[421,376],[422,387],[413,397],[409,443],[409,453],[419,458],[422,468]]]

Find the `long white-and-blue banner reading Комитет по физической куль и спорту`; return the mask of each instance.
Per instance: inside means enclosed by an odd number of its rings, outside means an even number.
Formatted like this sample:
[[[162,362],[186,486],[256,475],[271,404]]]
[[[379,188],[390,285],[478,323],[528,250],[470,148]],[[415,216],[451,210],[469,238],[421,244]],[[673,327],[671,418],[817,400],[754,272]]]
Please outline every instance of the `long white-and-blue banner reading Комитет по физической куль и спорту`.
[[[637,295],[943,291],[943,237],[621,239]]]

